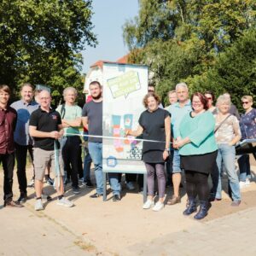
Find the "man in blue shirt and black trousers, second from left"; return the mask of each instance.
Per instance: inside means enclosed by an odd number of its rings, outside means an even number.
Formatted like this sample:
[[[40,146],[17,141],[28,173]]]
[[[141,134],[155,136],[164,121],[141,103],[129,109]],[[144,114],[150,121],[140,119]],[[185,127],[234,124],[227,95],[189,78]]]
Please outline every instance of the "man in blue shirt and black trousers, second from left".
[[[32,137],[28,134],[28,122],[31,113],[38,109],[38,103],[33,102],[32,84],[23,84],[20,90],[20,101],[12,103],[18,113],[17,124],[15,128],[15,157],[17,160],[17,177],[20,189],[19,202],[26,202],[26,154],[29,152],[32,160]]]

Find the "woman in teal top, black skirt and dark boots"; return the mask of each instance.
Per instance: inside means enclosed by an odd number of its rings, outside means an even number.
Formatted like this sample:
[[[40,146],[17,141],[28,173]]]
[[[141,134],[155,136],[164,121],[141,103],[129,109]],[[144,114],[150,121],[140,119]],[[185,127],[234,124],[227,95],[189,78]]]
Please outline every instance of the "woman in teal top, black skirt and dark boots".
[[[218,147],[214,137],[215,121],[212,113],[207,111],[207,98],[196,92],[191,96],[191,102],[193,111],[183,117],[174,147],[179,148],[189,198],[183,214],[189,215],[196,211],[195,198],[198,195],[200,210],[194,218],[201,219],[207,216],[208,176],[216,167]]]

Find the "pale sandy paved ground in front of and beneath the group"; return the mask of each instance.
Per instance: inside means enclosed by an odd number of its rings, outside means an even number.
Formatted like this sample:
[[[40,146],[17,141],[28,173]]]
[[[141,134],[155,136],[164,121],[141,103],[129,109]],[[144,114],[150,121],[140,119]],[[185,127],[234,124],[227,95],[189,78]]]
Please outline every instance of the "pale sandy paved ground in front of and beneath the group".
[[[256,167],[253,166],[253,173]],[[67,197],[75,207],[56,205],[55,190],[45,186],[54,200],[35,212],[34,191],[21,209],[3,208],[3,172],[0,171],[0,255],[256,255],[256,179],[242,190],[240,207],[212,203],[207,218],[183,217],[181,204],[160,212],[142,209],[143,196],[123,190],[122,201],[92,200],[94,189]],[[225,180],[225,177],[224,177]],[[15,199],[18,197],[15,179]],[[224,189],[226,189],[224,187]],[[167,190],[167,196],[172,191]]]

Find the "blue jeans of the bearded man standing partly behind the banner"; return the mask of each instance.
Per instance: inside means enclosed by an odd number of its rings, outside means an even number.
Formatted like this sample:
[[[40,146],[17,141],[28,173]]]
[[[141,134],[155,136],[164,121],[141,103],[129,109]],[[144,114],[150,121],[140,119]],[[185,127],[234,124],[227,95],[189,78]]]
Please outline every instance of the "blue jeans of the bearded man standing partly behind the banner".
[[[103,172],[102,172],[102,143],[88,143],[90,157],[95,166],[96,192],[103,194]],[[120,195],[121,186],[118,173],[108,173],[109,183],[113,195]]]

